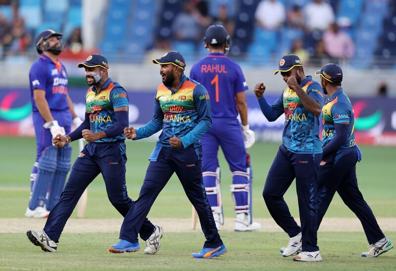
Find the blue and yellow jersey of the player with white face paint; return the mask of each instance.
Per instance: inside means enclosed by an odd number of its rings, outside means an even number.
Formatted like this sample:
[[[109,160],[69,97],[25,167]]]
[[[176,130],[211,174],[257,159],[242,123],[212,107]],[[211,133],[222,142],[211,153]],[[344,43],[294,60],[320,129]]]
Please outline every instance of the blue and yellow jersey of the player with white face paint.
[[[88,89],[85,96],[85,106],[86,113],[90,116],[90,129],[96,133],[117,122],[114,109],[129,106],[128,94],[120,84],[108,78],[99,93],[95,86]],[[95,142],[114,142],[118,140],[125,140],[125,135],[102,138]]]

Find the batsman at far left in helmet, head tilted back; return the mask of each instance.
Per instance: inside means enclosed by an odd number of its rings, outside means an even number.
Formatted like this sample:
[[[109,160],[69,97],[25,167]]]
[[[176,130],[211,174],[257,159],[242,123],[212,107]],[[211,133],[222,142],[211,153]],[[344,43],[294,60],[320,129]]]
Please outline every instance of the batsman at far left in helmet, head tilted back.
[[[74,112],[67,93],[66,69],[58,60],[64,47],[62,34],[48,29],[37,36],[35,43],[40,58],[30,69],[29,81],[37,155],[25,216],[44,218],[59,201],[71,165],[71,147],[57,150],[51,139],[69,133],[72,122],[77,127],[82,121]]]

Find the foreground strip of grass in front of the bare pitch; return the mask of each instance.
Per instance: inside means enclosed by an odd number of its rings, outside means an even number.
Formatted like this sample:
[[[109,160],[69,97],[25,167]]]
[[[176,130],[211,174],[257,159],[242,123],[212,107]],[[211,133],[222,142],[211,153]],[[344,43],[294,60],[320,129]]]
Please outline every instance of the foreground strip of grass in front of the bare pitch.
[[[279,252],[284,233],[223,232],[229,252],[213,260],[193,260],[203,243],[201,232],[164,233],[156,255],[142,252],[112,254],[107,246],[118,234],[63,234],[56,253],[44,253],[25,234],[0,234],[0,269],[15,270],[394,270],[395,251],[379,258],[362,258],[367,250],[363,232],[319,232],[321,263],[293,262]],[[396,240],[396,232],[388,235]],[[145,244],[141,242],[142,248]]]

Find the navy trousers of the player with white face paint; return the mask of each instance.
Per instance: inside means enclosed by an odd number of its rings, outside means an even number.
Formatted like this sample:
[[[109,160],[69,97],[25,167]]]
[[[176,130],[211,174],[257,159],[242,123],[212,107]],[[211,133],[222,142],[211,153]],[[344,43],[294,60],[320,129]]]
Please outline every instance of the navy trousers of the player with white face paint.
[[[58,242],[78,200],[99,173],[103,176],[108,199],[125,217],[134,204],[134,201],[128,196],[125,184],[126,161],[124,142],[88,143],[73,164],[59,202],[49,213],[44,227],[49,238]],[[141,228],[139,228],[139,232],[144,240],[147,240],[155,229],[147,218],[142,219]]]

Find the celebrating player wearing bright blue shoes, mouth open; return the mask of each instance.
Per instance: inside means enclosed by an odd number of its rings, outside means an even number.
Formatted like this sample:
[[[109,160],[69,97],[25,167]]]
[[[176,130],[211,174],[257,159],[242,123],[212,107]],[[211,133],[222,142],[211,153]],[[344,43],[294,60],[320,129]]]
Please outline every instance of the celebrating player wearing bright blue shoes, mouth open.
[[[124,218],[120,241],[110,246],[113,253],[139,250],[139,229],[155,198],[176,172],[187,197],[197,210],[206,241],[193,258],[212,258],[227,252],[217,232],[202,183],[199,138],[210,128],[209,95],[205,87],[184,75],[186,62],[180,52],[170,51],[152,62],[160,64],[162,84],[154,99],[152,119],[143,127],[125,128],[128,139],[149,137],[162,129],[148,160],[146,177],[139,198]]]

